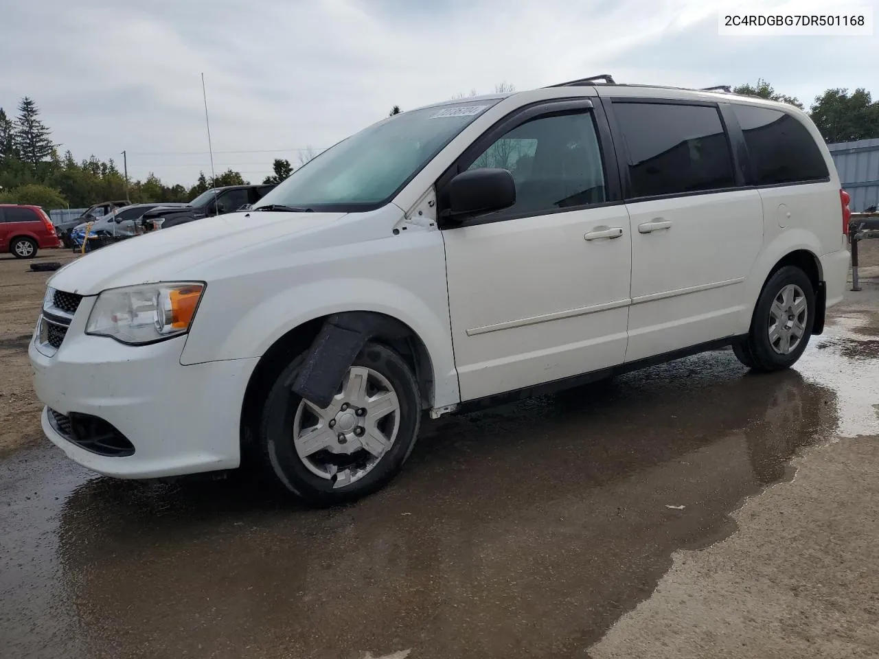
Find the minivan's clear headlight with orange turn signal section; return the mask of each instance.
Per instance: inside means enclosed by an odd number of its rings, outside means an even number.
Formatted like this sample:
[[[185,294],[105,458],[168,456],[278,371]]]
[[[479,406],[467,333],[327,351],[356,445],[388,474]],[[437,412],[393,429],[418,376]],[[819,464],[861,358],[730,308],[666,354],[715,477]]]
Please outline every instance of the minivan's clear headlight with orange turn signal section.
[[[185,334],[204,291],[200,282],[111,288],[98,295],[85,333],[130,345]]]

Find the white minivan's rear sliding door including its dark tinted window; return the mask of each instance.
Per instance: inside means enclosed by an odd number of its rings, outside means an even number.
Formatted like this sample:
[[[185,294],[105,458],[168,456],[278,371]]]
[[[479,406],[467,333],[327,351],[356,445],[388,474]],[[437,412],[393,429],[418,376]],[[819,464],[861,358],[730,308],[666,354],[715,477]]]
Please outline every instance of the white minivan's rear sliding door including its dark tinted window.
[[[626,361],[729,337],[748,304],[763,209],[716,103],[612,102],[632,235]]]

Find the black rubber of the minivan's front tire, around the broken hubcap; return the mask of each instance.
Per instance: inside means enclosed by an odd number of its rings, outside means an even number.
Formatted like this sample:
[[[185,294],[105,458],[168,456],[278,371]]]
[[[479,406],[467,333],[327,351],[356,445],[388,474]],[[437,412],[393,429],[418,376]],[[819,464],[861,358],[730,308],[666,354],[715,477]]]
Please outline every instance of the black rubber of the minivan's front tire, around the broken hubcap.
[[[395,351],[381,344],[367,344],[360,351],[352,366],[367,366],[389,380],[400,402],[400,426],[389,452],[368,474],[351,486],[333,489],[331,481],[313,474],[303,464],[294,446],[294,416],[301,397],[290,391],[289,383],[304,358],[304,354],[294,358],[266,397],[259,440],[268,466],[284,489],[316,505],[343,503],[371,494],[396,475],[415,446],[421,417],[418,383]]]

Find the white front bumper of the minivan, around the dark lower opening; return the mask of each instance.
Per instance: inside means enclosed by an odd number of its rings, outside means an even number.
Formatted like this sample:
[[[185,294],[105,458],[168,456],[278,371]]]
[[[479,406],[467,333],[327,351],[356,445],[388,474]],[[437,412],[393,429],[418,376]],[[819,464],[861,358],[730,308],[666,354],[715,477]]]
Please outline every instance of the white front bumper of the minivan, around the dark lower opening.
[[[62,415],[97,416],[133,445],[134,453],[106,456],[81,448],[55,430],[47,438],[71,460],[117,478],[158,478],[237,467],[244,391],[258,358],[180,365],[185,337],[129,346],[90,337],[84,325],[94,298],[84,298],[61,346],[51,357],[28,354],[33,386],[47,408]]]

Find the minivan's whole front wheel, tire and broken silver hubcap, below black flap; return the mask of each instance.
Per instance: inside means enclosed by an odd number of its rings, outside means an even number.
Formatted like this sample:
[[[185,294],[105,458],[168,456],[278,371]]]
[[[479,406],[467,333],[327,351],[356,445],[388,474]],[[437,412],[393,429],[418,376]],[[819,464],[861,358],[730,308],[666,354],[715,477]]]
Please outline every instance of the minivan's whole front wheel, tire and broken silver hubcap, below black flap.
[[[265,468],[282,489],[317,506],[372,494],[394,478],[415,447],[421,422],[415,376],[395,351],[367,344],[330,407],[318,410],[289,388],[304,359],[304,353],[294,358],[265,399],[258,438]],[[360,416],[367,405],[371,409]],[[309,434],[310,445],[294,441]]]

